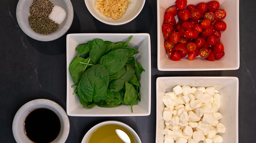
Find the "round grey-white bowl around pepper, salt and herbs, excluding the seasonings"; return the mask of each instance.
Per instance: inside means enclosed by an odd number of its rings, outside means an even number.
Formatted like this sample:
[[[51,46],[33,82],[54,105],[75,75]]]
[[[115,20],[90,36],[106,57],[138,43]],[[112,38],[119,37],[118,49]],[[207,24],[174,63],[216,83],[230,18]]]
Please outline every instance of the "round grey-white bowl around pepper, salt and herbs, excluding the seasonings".
[[[51,34],[39,34],[36,33],[30,26],[28,16],[30,16],[29,8],[32,5],[33,0],[19,0],[16,8],[16,17],[21,30],[29,37],[38,41],[52,41],[63,36],[70,28],[74,11],[70,0],[50,0],[53,5],[58,5],[66,11],[66,18],[60,24],[60,27]]]

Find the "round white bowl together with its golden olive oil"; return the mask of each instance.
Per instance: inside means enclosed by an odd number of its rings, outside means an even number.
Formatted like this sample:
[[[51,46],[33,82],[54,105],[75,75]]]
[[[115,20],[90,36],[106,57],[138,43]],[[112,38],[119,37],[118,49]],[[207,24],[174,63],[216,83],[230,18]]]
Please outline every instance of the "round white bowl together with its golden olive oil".
[[[119,121],[104,121],[92,127],[81,143],[141,143],[138,134],[128,125]]]

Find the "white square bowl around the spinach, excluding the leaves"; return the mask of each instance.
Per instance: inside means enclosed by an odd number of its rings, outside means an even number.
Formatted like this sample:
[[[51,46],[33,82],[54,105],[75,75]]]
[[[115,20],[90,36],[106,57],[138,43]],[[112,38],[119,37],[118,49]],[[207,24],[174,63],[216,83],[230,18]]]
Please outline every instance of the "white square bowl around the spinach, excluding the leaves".
[[[141,73],[140,79],[140,96],[141,101],[138,105],[131,106],[121,105],[118,107],[98,107],[94,106],[91,109],[85,108],[80,104],[79,98],[75,91],[71,88],[74,81],[69,72],[69,65],[72,60],[78,55],[75,48],[80,44],[85,44],[93,41],[95,38],[100,38],[104,41],[111,42],[126,42],[133,35],[129,42],[129,47],[134,47],[139,50],[135,55],[137,62],[145,69]],[[67,114],[69,116],[147,116],[151,111],[151,52],[150,52],[150,36],[147,33],[132,33],[132,34],[110,34],[110,33],[80,33],[67,35]]]

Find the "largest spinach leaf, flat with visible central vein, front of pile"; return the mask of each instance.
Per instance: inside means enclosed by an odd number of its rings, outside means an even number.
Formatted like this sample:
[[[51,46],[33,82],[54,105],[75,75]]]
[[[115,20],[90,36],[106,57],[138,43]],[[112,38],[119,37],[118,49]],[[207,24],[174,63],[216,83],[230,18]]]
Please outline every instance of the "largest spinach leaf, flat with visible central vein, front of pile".
[[[98,102],[106,94],[109,85],[109,74],[102,65],[88,68],[81,76],[78,84],[78,94],[87,102]]]

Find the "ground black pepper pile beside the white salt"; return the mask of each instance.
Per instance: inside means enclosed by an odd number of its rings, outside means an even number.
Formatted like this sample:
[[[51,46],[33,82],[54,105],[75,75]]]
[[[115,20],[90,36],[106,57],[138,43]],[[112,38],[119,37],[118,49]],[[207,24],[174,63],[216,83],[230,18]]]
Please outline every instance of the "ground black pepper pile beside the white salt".
[[[54,5],[49,0],[34,0],[30,6],[29,12],[32,16],[49,16],[53,6]]]

